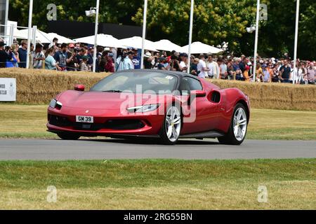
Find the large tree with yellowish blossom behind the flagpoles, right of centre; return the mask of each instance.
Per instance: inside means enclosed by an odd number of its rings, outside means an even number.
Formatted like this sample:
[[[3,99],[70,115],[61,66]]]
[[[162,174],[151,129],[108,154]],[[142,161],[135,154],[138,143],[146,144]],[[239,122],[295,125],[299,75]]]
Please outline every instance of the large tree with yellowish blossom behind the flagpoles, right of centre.
[[[256,13],[253,1],[197,0],[193,41],[217,45],[223,41],[230,43],[231,50],[240,52],[239,41],[246,32],[246,25]],[[139,8],[132,18],[136,24],[143,22],[143,8]],[[157,41],[169,38],[180,45],[186,45],[190,20],[190,1],[150,0],[147,13],[148,36]]]

